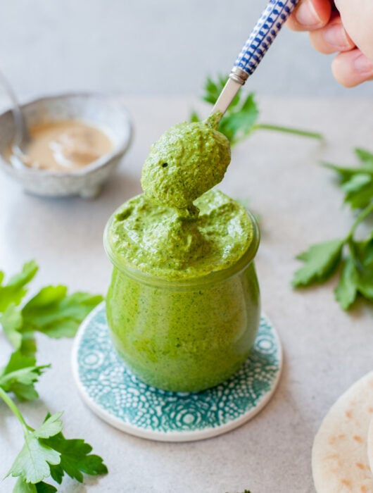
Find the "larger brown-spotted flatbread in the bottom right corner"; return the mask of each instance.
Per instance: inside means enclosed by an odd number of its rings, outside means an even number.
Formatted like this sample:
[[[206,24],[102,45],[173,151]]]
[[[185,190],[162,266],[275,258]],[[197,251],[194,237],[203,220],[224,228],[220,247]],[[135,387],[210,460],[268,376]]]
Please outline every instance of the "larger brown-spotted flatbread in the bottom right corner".
[[[367,437],[373,417],[373,372],[348,389],[325,416],[312,448],[317,493],[373,493]]]

